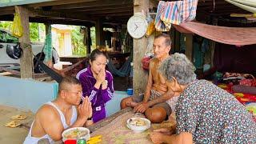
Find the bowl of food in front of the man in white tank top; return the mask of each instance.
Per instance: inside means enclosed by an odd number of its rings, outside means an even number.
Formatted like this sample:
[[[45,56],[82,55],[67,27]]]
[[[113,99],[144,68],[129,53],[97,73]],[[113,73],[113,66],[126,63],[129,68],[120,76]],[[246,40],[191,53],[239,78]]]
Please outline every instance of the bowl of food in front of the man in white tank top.
[[[86,141],[90,139],[90,130],[85,127],[73,127],[62,132],[62,141],[67,139],[85,138]]]

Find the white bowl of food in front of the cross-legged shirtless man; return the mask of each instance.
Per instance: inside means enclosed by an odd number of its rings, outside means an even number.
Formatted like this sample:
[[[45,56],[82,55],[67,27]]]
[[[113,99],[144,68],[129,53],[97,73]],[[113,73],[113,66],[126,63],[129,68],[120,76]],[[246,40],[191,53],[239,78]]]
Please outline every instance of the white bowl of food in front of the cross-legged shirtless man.
[[[146,118],[130,118],[127,120],[127,127],[135,133],[141,133],[150,128],[151,122]]]

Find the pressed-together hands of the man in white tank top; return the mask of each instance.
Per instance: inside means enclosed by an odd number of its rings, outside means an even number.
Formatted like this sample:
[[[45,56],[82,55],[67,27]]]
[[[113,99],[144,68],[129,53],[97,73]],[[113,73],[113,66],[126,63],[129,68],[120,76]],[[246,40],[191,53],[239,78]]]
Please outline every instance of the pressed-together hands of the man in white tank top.
[[[89,98],[86,96],[86,98],[83,100],[82,104],[78,106],[78,114],[79,118],[90,118],[92,114],[92,108],[91,103],[89,101]]]

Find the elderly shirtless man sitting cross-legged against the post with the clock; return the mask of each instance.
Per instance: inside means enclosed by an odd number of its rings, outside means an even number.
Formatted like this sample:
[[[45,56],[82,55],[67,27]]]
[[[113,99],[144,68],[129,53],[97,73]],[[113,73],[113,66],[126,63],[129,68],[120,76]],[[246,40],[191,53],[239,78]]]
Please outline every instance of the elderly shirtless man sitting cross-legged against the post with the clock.
[[[162,122],[170,115],[170,105],[166,103],[171,98],[172,91],[167,90],[165,79],[158,72],[161,63],[169,58],[170,36],[159,34],[154,38],[154,58],[150,60],[149,78],[143,95],[122,99],[121,108],[134,107],[134,112],[146,114],[151,122]]]

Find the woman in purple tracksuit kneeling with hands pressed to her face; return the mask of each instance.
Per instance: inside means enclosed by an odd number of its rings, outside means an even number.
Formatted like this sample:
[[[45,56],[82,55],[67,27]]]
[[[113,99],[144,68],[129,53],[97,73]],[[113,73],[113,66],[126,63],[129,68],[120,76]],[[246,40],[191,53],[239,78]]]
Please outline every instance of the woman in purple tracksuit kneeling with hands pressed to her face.
[[[88,96],[93,108],[93,121],[106,118],[106,102],[114,96],[113,76],[106,70],[106,54],[95,49],[90,54],[90,66],[78,72],[82,96]]]

